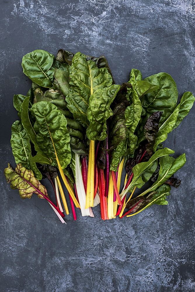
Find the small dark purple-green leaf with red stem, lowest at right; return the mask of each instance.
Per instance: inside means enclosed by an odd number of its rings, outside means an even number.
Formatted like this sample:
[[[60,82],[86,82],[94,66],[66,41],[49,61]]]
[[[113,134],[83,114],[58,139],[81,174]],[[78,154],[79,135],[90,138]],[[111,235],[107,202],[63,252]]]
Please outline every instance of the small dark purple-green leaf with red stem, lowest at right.
[[[151,200],[153,195],[156,192],[151,192],[147,197],[136,197],[134,199],[131,199],[127,205],[126,208],[129,209],[131,212],[137,212],[140,211],[142,208],[144,208]]]

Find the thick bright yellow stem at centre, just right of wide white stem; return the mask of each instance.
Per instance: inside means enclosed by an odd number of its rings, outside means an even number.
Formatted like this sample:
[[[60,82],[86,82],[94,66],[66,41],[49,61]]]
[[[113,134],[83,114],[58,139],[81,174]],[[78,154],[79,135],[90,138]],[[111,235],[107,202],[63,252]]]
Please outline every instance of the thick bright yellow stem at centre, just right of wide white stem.
[[[86,209],[88,209],[89,207],[93,207],[94,171],[95,171],[95,141],[90,140],[88,173],[87,173],[86,206],[85,206]]]

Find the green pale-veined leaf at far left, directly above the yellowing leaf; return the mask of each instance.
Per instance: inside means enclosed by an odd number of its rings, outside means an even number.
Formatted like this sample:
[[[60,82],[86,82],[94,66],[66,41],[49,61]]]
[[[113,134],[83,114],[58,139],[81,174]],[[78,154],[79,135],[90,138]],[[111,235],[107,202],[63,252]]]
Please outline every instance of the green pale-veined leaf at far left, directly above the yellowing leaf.
[[[17,164],[22,163],[25,168],[31,169],[36,178],[41,180],[42,175],[36,167],[36,163],[31,161],[32,153],[30,139],[26,130],[22,126],[22,122],[15,121],[11,127],[11,131],[11,147],[15,162]]]

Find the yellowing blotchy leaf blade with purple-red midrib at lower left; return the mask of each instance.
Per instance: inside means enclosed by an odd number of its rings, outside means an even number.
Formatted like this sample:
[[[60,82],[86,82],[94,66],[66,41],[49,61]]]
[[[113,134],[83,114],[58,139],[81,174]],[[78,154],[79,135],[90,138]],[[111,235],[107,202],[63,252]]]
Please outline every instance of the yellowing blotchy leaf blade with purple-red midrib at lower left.
[[[34,177],[33,171],[23,167],[21,163],[16,165],[15,170],[8,164],[8,167],[4,170],[4,175],[7,182],[11,183],[11,188],[13,190],[19,190],[22,199],[31,198],[33,193],[39,198],[43,198],[37,190],[48,197],[46,188]]]

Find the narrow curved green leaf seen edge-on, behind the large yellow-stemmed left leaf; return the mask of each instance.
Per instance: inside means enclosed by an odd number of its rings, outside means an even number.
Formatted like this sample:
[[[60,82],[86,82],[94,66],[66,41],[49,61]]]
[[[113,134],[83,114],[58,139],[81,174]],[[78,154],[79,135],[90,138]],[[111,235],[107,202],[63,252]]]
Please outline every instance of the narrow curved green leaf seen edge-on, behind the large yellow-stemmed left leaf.
[[[25,98],[22,103],[22,124],[25,128],[31,142],[34,144],[34,149],[37,154],[31,158],[32,162],[39,162],[40,164],[51,164],[51,159],[47,157],[45,153],[39,147],[36,140],[36,132],[33,128],[32,122],[29,118],[29,96]]]

